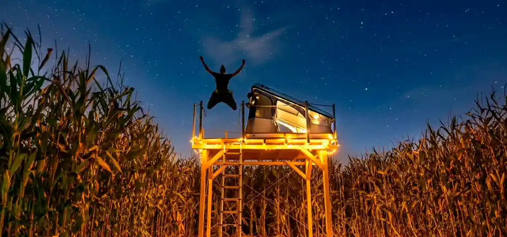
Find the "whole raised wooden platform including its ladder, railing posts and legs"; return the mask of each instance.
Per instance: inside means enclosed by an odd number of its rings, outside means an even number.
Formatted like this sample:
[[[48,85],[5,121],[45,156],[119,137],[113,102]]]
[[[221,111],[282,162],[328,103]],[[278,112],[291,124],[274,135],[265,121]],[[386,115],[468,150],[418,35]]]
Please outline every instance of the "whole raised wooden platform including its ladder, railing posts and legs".
[[[305,109],[306,124],[309,127],[310,118],[308,116],[308,102],[303,105],[295,104],[294,106],[301,106]],[[250,106],[252,107],[252,106]],[[244,123],[244,108],[245,103],[242,102],[240,106],[240,113],[242,117],[241,122],[241,136],[231,138],[228,137],[227,132],[224,137],[205,137],[204,129],[202,127],[203,107],[202,101],[199,105],[194,105],[194,125],[192,133],[192,148],[198,150],[201,159],[201,186],[200,186],[200,202],[199,202],[199,227],[198,236],[210,237],[211,234],[211,200],[213,179],[222,176],[220,185],[221,198],[220,198],[220,225],[218,235],[222,236],[224,226],[231,226],[237,228],[237,236],[242,235],[241,219],[242,219],[242,166],[244,165],[287,165],[294,169],[303,179],[306,180],[306,195],[307,195],[307,208],[308,208],[308,236],[312,237],[312,211],[311,211],[311,171],[312,167],[320,169],[323,172],[323,195],[325,206],[325,231],[327,236],[332,235],[332,220],[331,220],[331,200],[329,190],[329,173],[328,173],[328,155],[332,154],[338,149],[336,128],[333,128],[332,133],[311,133],[310,129],[306,129],[305,133],[246,133]],[[250,108],[251,109],[251,108]],[[196,117],[197,110],[199,110],[199,127],[198,134],[196,133]],[[334,105],[333,105],[333,124],[336,127],[334,120]],[[218,169],[213,169],[218,166]],[[236,173],[225,173],[224,170],[228,166],[236,166]],[[301,170],[297,166],[304,166]],[[207,174],[206,174],[207,172]],[[207,182],[206,182],[207,175]],[[225,186],[225,180],[228,178],[236,179],[237,182],[233,186]],[[206,188],[207,186],[207,188]],[[207,192],[206,192],[207,189]],[[235,197],[226,197],[226,189],[235,191]],[[235,210],[224,210],[224,202],[235,202]],[[204,214],[207,211],[207,224],[206,231],[204,232]],[[234,221],[228,223],[224,215],[234,216]]]

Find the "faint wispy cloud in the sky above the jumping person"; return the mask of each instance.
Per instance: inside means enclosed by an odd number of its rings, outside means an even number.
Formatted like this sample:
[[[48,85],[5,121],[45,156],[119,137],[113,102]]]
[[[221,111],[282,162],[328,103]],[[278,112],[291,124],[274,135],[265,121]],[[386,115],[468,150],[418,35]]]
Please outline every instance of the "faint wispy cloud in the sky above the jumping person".
[[[241,10],[240,32],[232,41],[206,36],[204,38],[206,56],[230,64],[245,58],[250,65],[260,65],[273,59],[280,50],[279,40],[288,26],[284,26],[256,37],[255,17],[250,9]],[[237,24],[233,24],[237,25]],[[257,35],[257,34],[256,34]]]

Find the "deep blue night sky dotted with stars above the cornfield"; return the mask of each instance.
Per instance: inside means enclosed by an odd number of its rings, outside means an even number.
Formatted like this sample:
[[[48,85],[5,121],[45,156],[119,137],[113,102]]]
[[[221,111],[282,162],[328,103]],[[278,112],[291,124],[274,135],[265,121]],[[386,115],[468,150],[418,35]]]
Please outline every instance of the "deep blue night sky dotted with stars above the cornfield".
[[[238,105],[255,82],[310,103],[336,104],[341,151],[392,147],[425,123],[463,115],[478,93],[507,82],[507,2],[300,0],[2,0],[0,21],[43,48],[116,72],[137,91],[182,155],[191,154],[193,103],[206,104],[211,70],[229,72]],[[207,136],[240,131],[239,111],[206,111]]]

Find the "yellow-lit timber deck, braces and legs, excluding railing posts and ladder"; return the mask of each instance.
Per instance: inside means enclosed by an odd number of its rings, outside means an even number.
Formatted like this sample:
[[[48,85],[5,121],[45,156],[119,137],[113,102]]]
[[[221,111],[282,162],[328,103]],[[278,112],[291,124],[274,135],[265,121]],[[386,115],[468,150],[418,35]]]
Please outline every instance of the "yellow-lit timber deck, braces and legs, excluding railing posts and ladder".
[[[204,132],[202,129],[201,133]],[[228,133],[229,135],[229,133]],[[227,135],[227,136],[228,136]],[[313,237],[313,219],[311,203],[311,169],[315,165],[324,176],[325,232],[332,236],[331,200],[329,190],[328,155],[335,152],[339,145],[334,134],[245,134],[244,138],[208,138],[203,135],[191,139],[192,148],[201,151],[201,192],[199,199],[199,237],[204,236],[204,211],[207,209],[206,236],[211,235],[211,201],[213,179],[222,174],[227,162],[238,162],[242,165],[288,165],[306,181],[306,198],[308,212],[308,236]],[[239,155],[235,155],[239,154]],[[208,159],[211,157],[211,159]],[[213,172],[212,167],[220,166]],[[304,165],[304,171],[297,166]],[[208,193],[205,191],[206,171],[208,173]],[[241,180],[240,180],[241,184]],[[205,202],[207,194],[207,202]],[[205,208],[206,205],[206,208]],[[241,204],[239,204],[241,205]],[[221,210],[223,207],[220,207]],[[222,212],[221,212],[222,214]],[[239,215],[239,214],[238,214]],[[223,217],[223,214],[222,214]],[[222,218],[220,219],[222,224]],[[241,221],[239,222],[241,224]],[[237,227],[237,236],[242,233]],[[218,235],[222,236],[219,228]]]

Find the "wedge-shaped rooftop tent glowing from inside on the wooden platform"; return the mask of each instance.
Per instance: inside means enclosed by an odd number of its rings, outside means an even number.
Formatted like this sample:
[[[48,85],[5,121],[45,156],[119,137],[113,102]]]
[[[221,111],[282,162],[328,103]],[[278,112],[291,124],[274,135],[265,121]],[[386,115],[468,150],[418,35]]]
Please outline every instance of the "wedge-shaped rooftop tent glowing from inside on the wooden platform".
[[[294,133],[306,133],[305,103],[280,90],[256,83],[248,93],[250,100],[246,133],[278,133],[282,125]],[[333,116],[308,106],[310,133],[333,133]]]

